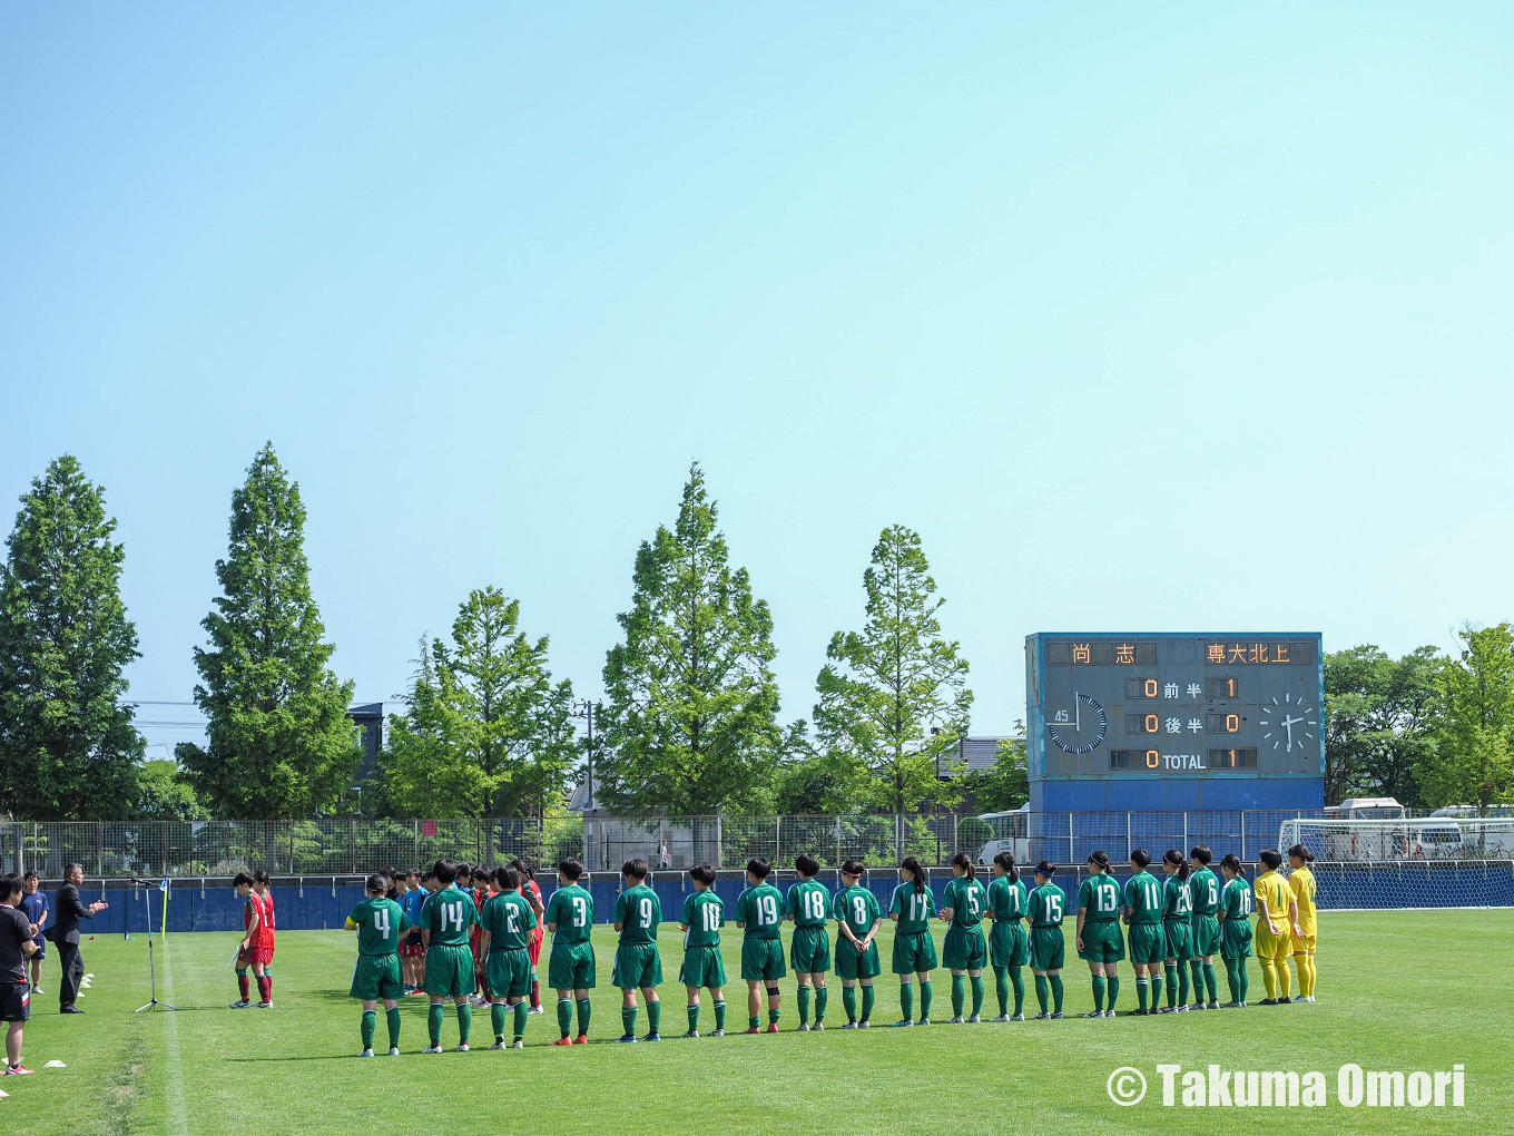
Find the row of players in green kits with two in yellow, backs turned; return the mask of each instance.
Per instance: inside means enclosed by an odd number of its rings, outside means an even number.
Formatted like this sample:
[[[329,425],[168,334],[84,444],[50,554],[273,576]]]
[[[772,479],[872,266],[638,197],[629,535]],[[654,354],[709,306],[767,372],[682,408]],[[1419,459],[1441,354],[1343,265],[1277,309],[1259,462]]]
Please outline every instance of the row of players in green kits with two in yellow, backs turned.
[[[1287,956],[1296,957],[1301,1001],[1313,1001],[1314,985],[1314,880],[1308,862],[1314,857],[1302,845],[1290,851],[1293,872],[1284,879],[1278,868],[1282,857],[1275,850],[1261,853],[1267,871],[1248,885],[1235,856],[1220,860],[1225,885],[1210,869],[1210,850],[1199,845],[1188,857],[1172,850],[1163,856],[1166,882],[1148,868],[1151,856],[1137,848],[1129,856],[1132,879],[1123,894],[1110,874],[1108,856],[1089,857],[1090,875],[1078,891],[1076,948],[1089,962],[1093,978],[1095,1009],[1084,1016],[1113,1018],[1119,998],[1120,960],[1129,956],[1136,968],[1136,1013],[1182,1013],[1190,1009],[1223,1009],[1219,1003],[1214,954],[1225,960],[1231,1001],[1225,1007],[1246,1006],[1246,959],[1252,942],[1258,948],[1267,1000],[1263,1004],[1291,1001]],[[857,860],[842,865],[842,889],[834,895],[815,877],[821,865],[813,856],[795,862],[799,882],[787,895],[768,883],[771,866],[754,859],[746,865],[748,888],[736,901],[736,925],[742,928],[740,975],[748,989],[746,1033],[762,1033],[762,1012],[766,1000],[768,1033],[778,1031],[781,992],[777,985],[792,966],[798,975],[799,1030],[824,1030],[830,991],[827,974],[833,969],[828,919],[836,919],[837,944],[834,972],[842,982],[842,1003],[846,1010],[843,1030],[869,1028],[874,1009],[874,978],[883,972],[877,936],[883,925],[883,910],[877,895],[861,886],[866,868]],[[1190,875],[1190,868],[1192,875]],[[662,1041],[662,1001],[657,986],[663,982],[662,957],[657,950],[657,928],[662,922],[662,901],[646,886],[645,860],[622,865],[624,889],[616,898],[613,922],[619,935],[612,983],[622,992],[621,1021],[624,1033],[616,1041]],[[993,862],[993,882],[984,888],[977,879],[972,859],[966,853],[952,857],[954,879],[937,910],[924,866],[913,856],[901,863],[904,882],[895,889],[889,916],[896,922],[893,939],[893,972],[899,975],[902,1018],[896,1027],[928,1025],[931,1010],[931,971],[939,963],[930,919],[948,924],[942,944],[942,960],[952,975],[952,1022],[978,1022],[984,1001],[983,971],[992,965],[996,977],[999,1015],[990,1021],[1023,1021],[1025,985],[1022,969],[1030,965],[1036,982],[1040,1012],[1037,1019],[1063,1016],[1061,966],[1066,947],[1063,918],[1066,892],[1052,877],[1057,866],[1042,860],[1033,875],[1034,889],[1020,880],[1014,857],[1001,853]],[[583,865],[563,860],[557,866],[559,888],[547,901],[542,922],[553,935],[548,959],[548,985],[557,991],[557,1024],[560,1038],[554,1045],[586,1045],[589,1041],[589,991],[597,985],[595,953],[590,944],[593,897],[580,885]],[[421,906],[416,925],[425,950],[425,994],[430,997],[430,1045],[425,1053],[441,1053],[441,1033],[448,1000],[457,1006],[459,1050],[468,1050],[472,1025],[469,995],[474,992],[474,951],[469,933],[481,928],[478,956],[483,959],[484,988],[491,998],[491,1021],[495,1042],[492,1048],[524,1048],[527,998],[534,982],[530,951],[537,928],[536,910],[521,894],[522,875],[513,868],[494,872],[495,889],[481,910],[474,898],[456,886],[457,866],[439,860],[431,871],[433,891]],[[721,957],[721,927],[725,904],[715,894],[715,869],[699,865],[689,872],[693,892],[683,906],[678,928],[684,933],[684,956],[678,980],[687,991],[689,1028],[684,1038],[699,1036],[701,991],[709,991],[715,1028],[712,1036],[725,1033],[725,965]],[[385,897],[388,880],[383,874],[368,879],[368,898],[353,909],[347,927],[357,932],[359,957],[353,971],[351,997],[362,1000],[363,1056],[372,1056],[377,1030],[377,1004],[385,1003],[389,1022],[389,1051],[398,1054],[400,1013],[397,1000],[404,994],[404,982],[397,957],[397,944],[412,922],[400,904]],[[1254,936],[1249,915],[1258,915]],[[986,938],[983,921],[992,918]],[[787,963],[780,928],[793,922],[793,939]],[[1128,947],[1119,921],[1129,927]],[[1030,922],[1030,928],[1023,925]],[[1188,1003],[1188,977],[1198,1001]],[[1160,1006],[1163,978],[1167,1004]],[[972,991],[970,1015],[967,989]],[[914,992],[919,988],[921,1010],[914,1018]],[[860,1010],[858,1010],[860,988]],[[1205,1000],[1205,991],[1208,998]],[[1281,991],[1281,997],[1278,995]],[[1010,1012],[1013,992],[1014,1009]],[[637,1038],[636,1021],[640,1010],[637,994],[645,1000],[648,1033]],[[810,1010],[815,1024],[810,1025]],[[574,1010],[577,1009],[577,1036]],[[513,1041],[506,1042],[506,1024],[513,1016]]]

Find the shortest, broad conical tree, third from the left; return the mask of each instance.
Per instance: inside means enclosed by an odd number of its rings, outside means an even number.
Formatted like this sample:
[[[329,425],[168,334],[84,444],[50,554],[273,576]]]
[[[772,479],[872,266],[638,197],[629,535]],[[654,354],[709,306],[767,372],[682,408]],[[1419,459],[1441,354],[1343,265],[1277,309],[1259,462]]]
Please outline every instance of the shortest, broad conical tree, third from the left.
[[[378,759],[391,809],[421,816],[542,816],[577,757],[572,683],[553,683],[547,636],[519,630],[498,588],[460,604],[451,642],[422,641],[406,712]]]

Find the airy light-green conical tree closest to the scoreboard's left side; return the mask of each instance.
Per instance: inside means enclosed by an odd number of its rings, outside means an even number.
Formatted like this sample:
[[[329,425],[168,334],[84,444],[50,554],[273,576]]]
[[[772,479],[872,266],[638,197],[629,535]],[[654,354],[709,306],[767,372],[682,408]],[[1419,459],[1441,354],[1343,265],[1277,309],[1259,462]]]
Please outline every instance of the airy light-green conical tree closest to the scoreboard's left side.
[[[955,771],[972,691],[960,644],[942,638],[946,600],[930,573],[916,532],[884,529],[863,573],[863,627],[831,636],[816,679],[821,748],[872,772],[874,803],[892,812],[961,798],[943,774]]]

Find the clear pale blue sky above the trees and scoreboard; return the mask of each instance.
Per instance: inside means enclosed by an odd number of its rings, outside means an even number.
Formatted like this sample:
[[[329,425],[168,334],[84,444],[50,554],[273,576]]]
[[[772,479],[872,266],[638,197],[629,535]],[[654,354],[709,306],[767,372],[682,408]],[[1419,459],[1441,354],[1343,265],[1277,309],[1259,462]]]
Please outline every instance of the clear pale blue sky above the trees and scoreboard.
[[[1514,618],[1514,6],[1148,8],[6,5],[0,529],[79,456],[160,701],[269,438],[359,700],[488,583],[597,694],[693,457],[784,718],[890,523],[980,733]]]

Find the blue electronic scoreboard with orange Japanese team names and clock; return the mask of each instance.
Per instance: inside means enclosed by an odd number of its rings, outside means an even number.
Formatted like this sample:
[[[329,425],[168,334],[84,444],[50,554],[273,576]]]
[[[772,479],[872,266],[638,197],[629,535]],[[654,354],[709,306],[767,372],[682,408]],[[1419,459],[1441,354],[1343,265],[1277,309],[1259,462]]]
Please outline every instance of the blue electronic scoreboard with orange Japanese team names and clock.
[[[1025,641],[1031,809],[1317,809],[1317,632]]]

